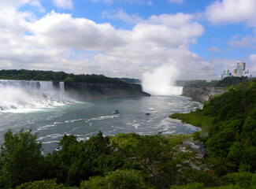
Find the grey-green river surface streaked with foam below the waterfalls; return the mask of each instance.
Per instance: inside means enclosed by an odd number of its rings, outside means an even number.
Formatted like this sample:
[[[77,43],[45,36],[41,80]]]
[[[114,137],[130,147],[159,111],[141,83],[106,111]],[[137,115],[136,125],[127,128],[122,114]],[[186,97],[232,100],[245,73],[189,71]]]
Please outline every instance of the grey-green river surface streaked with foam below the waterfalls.
[[[179,135],[198,131],[189,124],[168,118],[172,113],[188,113],[200,108],[200,104],[181,96],[151,96],[141,98],[106,98],[95,102],[71,103],[64,106],[32,109],[24,113],[0,114],[0,143],[4,133],[11,129],[32,128],[43,143],[46,154],[58,146],[65,134],[86,140],[101,131],[103,135],[135,132],[140,135]],[[113,115],[113,109],[119,114]],[[145,113],[150,113],[146,115]]]

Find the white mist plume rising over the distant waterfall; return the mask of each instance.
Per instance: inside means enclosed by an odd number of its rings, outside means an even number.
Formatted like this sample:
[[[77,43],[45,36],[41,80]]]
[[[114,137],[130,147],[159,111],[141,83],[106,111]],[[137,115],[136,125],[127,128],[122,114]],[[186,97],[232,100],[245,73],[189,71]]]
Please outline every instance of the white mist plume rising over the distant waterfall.
[[[173,65],[161,65],[153,72],[143,74],[143,91],[150,95],[182,95],[183,87],[174,86],[179,72]]]

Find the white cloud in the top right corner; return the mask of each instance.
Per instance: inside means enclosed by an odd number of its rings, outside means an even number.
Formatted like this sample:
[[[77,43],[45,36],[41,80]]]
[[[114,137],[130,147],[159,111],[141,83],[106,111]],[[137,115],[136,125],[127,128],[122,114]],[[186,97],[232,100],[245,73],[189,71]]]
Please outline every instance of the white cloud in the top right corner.
[[[255,9],[255,0],[217,0],[206,7],[206,19],[213,24],[247,22],[251,26],[256,26]]]

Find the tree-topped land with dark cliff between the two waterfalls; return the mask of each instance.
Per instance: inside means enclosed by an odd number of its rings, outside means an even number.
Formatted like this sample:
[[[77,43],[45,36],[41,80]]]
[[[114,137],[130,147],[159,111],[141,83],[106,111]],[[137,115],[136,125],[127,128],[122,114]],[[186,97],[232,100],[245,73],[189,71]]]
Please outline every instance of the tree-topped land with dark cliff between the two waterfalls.
[[[58,82],[64,82],[65,91],[78,100],[150,96],[142,91],[139,80],[128,78],[121,80],[96,74],[75,75],[65,72],[3,69],[0,70],[0,80],[44,80],[52,81],[55,86],[58,86]]]

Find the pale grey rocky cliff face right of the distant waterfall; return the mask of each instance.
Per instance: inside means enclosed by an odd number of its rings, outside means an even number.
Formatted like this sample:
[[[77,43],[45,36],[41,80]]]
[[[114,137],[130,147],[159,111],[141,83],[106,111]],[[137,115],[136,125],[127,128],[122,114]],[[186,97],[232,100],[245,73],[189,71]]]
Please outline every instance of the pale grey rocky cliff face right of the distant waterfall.
[[[185,86],[183,89],[183,96],[191,97],[196,102],[206,102],[215,95],[221,95],[227,92],[223,87],[199,87],[199,86]]]

